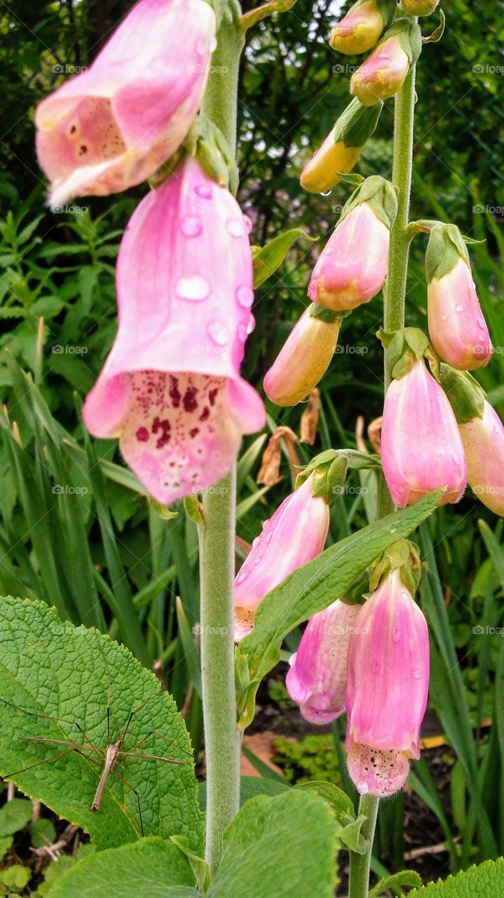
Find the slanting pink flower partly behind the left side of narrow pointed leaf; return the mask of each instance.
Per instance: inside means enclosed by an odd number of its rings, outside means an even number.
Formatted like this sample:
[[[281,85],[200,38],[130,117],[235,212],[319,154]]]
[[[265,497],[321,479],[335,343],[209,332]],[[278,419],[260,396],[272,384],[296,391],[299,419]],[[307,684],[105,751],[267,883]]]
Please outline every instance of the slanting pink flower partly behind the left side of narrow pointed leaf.
[[[254,626],[257,605],[324,549],[329,529],[329,507],[323,497],[312,496],[313,477],[283,500],[252,543],[235,580],[235,638],[247,636]]]

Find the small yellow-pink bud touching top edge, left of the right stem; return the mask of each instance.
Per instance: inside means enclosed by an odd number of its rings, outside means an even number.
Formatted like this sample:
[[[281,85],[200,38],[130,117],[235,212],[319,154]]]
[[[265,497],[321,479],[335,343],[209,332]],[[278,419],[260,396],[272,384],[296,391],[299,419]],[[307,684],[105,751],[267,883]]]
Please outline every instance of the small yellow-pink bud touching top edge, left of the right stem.
[[[394,19],[395,9],[395,0],[393,4],[387,0],[357,0],[331,31],[331,47],[350,55],[367,53]]]

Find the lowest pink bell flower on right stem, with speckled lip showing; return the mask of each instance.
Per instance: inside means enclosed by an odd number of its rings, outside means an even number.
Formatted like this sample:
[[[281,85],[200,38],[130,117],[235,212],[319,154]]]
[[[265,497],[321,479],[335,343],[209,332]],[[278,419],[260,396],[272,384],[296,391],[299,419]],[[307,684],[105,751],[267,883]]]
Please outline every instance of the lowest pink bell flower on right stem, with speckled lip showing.
[[[361,606],[348,650],[346,750],[361,795],[404,786],[428,691],[427,624],[395,569]]]

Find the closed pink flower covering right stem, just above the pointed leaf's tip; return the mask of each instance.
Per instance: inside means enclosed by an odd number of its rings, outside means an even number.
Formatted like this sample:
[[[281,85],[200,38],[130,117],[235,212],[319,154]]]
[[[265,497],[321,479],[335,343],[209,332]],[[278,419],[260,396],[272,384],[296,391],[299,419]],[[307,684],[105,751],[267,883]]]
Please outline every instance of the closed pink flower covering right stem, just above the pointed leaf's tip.
[[[439,505],[458,502],[465,489],[464,446],[449,401],[421,359],[387,390],[381,460],[395,505],[413,505],[446,487]]]

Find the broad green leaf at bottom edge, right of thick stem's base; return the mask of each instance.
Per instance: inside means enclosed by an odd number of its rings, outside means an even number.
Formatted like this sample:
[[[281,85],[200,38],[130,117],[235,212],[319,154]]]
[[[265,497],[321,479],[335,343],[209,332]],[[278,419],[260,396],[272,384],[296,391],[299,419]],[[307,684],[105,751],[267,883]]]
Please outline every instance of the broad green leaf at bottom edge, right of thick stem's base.
[[[326,802],[307,791],[251,798],[224,833],[208,898],[332,898],[336,832]]]

